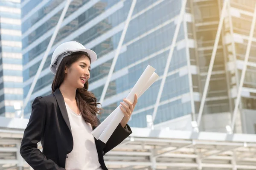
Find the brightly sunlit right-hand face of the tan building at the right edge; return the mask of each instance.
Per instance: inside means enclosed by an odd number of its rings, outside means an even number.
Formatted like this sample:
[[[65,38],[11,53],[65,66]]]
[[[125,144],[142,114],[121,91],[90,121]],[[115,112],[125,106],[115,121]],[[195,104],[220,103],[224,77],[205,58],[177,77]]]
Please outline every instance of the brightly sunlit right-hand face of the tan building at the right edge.
[[[230,25],[225,26],[225,31],[233,30],[234,37],[234,48],[232,43],[227,43],[227,61],[229,63],[236,63],[236,67],[232,67],[229,71],[229,83],[230,88],[236,89],[239,85],[239,80],[241,79],[241,73],[243,68],[243,61],[247,49],[248,38],[250,34],[250,29],[252,25],[253,19],[253,10],[256,1],[245,1],[245,0],[233,0],[230,3],[231,8],[236,9],[236,13],[238,15],[231,15],[231,20],[227,19],[226,22],[230,23]],[[246,12],[244,12],[246,11]],[[230,22],[231,21],[231,22]],[[232,35],[230,35],[232,36]],[[253,37],[256,37],[256,32],[254,30]],[[240,41],[238,39],[241,39]],[[245,115],[245,119],[250,119],[249,116],[246,115],[247,110],[253,111],[252,113],[256,113],[255,101],[256,101],[256,80],[254,79],[256,73],[256,42],[253,40],[250,55],[248,59],[247,69],[244,77],[243,91],[247,91],[246,94],[241,94],[241,107],[244,109],[242,114]],[[234,54],[234,50],[236,54]],[[236,95],[234,95],[236,96]],[[235,105],[235,99],[232,99],[233,107]],[[253,119],[250,119],[253,122]],[[247,132],[250,133],[249,130]],[[256,133],[256,132],[255,132]]]

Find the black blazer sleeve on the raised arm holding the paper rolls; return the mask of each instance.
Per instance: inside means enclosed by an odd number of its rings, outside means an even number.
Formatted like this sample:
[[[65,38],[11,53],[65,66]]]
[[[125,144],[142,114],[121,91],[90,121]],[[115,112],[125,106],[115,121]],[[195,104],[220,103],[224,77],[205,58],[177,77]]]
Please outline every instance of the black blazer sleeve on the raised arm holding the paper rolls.
[[[122,125],[119,123],[119,125],[116,127],[116,130],[108,139],[108,142],[106,143],[105,148],[103,149],[103,155],[105,155],[105,153],[107,153],[108,151],[116,147],[118,144],[120,144],[131,133],[131,127],[128,124],[125,125],[125,127],[122,127]]]

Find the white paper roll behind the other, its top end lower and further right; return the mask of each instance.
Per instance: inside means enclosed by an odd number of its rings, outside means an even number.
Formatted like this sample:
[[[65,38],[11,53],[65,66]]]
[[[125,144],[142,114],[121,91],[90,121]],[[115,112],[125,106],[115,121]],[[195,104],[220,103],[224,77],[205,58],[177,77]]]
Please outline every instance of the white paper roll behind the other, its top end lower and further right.
[[[140,96],[144,94],[146,90],[148,90],[148,88],[158,79],[158,77],[159,76],[155,72],[152,74],[144,88],[140,91],[140,94],[137,94],[138,99],[140,98]],[[99,126],[95,130],[93,130],[92,134],[95,137],[95,139],[99,140],[99,136],[102,134],[102,132],[111,122],[113,117],[116,115],[118,108],[119,107],[117,107],[101,124],[99,124]]]

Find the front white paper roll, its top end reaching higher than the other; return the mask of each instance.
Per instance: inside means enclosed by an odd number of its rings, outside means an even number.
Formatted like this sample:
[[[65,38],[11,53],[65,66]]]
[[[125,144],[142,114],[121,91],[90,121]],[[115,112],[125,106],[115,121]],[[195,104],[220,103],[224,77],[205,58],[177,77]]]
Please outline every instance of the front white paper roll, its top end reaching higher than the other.
[[[140,94],[140,92],[145,87],[145,82],[148,82],[150,77],[153,75],[155,69],[148,65],[143,74],[140,76],[134,87],[131,89],[131,92],[128,94],[127,98],[130,102],[134,102],[134,95]],[[102,132],[102,134],[99,136],[99,140],[106,143],[118,124],[121,122],[122,118],[124,117],[124,114],[122,113],[121,109],[118,107],[116,113],[113,116],[113,119],[108,123],[105,130]],[[96,128],[97,129],[97,128]],[[96,130],[95,129],[95,130]],[[96,130],[97,131],[97,130]]]

